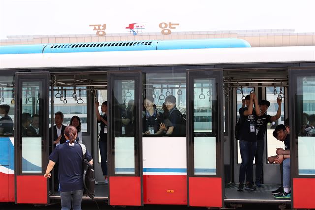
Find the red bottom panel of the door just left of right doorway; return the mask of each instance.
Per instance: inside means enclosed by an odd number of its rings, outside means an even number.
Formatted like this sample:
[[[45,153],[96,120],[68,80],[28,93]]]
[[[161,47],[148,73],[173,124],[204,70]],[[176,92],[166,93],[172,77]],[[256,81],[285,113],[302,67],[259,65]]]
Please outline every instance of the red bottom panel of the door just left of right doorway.
[[[222,207],[222,178],[189,177],[189,205]]]

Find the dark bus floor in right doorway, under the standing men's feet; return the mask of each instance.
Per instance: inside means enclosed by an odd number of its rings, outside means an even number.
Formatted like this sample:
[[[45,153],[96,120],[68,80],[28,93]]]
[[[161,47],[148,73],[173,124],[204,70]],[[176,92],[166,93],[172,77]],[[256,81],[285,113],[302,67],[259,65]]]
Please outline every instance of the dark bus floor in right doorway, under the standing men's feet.
[[[262,184],[256,190],[237,191],[238,184],[225,185],[225,202],[231,203],[291,203],[291,199],[274,198],[271,191],[278,189],[279,184]]]

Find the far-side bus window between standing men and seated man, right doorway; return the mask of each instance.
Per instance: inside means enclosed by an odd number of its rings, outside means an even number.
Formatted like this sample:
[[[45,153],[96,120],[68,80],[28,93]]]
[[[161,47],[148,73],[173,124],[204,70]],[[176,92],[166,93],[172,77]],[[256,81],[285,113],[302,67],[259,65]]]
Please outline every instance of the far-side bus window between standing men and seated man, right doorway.
[[[280,87],[276,87],[279,93]],[[270,116],[275,116],[277,114],[278,104],[277,104],[278,94],[274,94],[274,87],[266,88],[266,100],[270,102],[267,114]],[[284,124],[284,100],[281,103],[281,117],[273,123],[267,124],[267,157],[275,155],[277,148],[284,148],[284,142],[281,142],[274,138],[272,132],[275,130],[276,126],[279,124]],[[269,164],[269,162],[267,161]]]

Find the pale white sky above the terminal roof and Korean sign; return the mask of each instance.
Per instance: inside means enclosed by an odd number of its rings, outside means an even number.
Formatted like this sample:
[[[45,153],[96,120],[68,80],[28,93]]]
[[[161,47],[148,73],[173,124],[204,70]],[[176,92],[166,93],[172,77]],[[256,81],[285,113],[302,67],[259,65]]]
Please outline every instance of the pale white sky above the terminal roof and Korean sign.
[[[0,0],[0,39],[16,35],[295,29],[315,32],[315,0]]]

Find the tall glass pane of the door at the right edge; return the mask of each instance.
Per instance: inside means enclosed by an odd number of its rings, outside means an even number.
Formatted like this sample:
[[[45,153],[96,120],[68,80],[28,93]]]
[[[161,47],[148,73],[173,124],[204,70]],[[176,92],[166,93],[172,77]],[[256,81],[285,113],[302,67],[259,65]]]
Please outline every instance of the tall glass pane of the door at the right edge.
[[[315,175],[315,77],[297,77],[295,131],[299,175]]]

